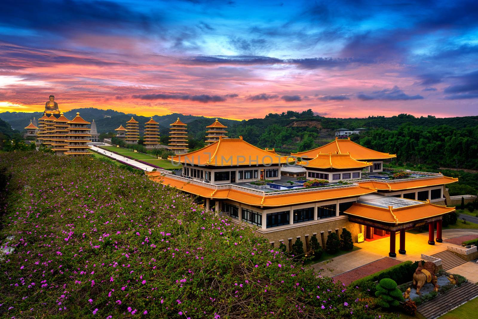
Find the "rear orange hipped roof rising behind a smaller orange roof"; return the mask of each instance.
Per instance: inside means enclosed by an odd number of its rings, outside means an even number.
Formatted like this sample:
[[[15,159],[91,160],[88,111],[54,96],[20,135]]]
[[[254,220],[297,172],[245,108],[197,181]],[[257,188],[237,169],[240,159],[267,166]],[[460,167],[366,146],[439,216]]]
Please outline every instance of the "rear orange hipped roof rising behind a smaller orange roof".
[[[371,150],[367,147],[359,145],[347,140],[339,140],[336,138],[335,141],[325,144],[323,146],[317,147],[310,151],[291,153],[293,156],[297,157],[306,157],[306,158],[315,158],[319,153],[340,153],[340,154],[350,154],[353,159],[356,160],[373,160],[373,159],[386,159],[397,157],[395,154],[382,153],[378,151]]]

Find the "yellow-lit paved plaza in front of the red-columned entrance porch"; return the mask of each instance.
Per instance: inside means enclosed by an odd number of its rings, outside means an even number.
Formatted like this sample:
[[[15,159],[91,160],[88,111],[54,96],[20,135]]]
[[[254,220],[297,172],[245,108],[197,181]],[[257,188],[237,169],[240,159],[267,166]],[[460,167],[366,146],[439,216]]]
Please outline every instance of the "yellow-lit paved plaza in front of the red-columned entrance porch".
[[[443,230],[442,238],[454,238],[464,235],[476,234],[478,237],[478,230],[467,230],[467,229],[447,229]],[[436,232],[435,232],[436,235]],[[406,254],[399,254],[399,242],[400,235],[397,234],[396,237],[396,259],[400,262],[407,260],[417,261],[420,260],[421,254],[433,255],[435,253],[443,252],[446,250],[447,246],[457,246],[449,242],[435,242],[435,245],[428,244],[428,232],[414,234],[411,232],[406,233],[406,245],[405,250]],[[349,270],[355,269],[357,267],[370,264],[376,260],[387,257],[390,251],[390,238],[385,237],[382,239],[375,240],[373,242],[361,242],[354,244],[361,249],[356,250],[351,253],[346,253],[344,255],[335,257],[331,260],[320,262],[317,264],[311,265],[317,272],[320,272],[322,276],[333,277]],[[320,268],[323,268],[320,271]],[[473,262],[467,262],[456,266],[455,268],[449,269],[448,272],[455,273],[459,275],[464,275],[471,282],[478,282],[478,264]]]

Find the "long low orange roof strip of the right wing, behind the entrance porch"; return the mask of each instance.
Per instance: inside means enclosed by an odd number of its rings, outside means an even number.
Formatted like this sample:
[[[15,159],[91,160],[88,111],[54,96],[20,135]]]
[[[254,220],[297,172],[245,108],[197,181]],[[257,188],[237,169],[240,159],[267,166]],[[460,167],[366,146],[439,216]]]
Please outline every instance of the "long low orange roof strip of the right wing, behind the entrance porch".
[[[447,176],[439,176],[435,178],[427,178],[427,179],[415,179],[415,180],[397,180],[397,181],[389,181],[389,182],[382,182],[382,181],[367,181],[367,182],[359,182],[360,186],[364,187],[373,187],[378,190],[404,190],[404,189],[414,189],[414,188],[421,188],[421,187],[428,187],[428,186],[437,186],[437,185],[445,185],[450,183],[455,183],[458,181],[458,178],[454,177],[447,177]]]

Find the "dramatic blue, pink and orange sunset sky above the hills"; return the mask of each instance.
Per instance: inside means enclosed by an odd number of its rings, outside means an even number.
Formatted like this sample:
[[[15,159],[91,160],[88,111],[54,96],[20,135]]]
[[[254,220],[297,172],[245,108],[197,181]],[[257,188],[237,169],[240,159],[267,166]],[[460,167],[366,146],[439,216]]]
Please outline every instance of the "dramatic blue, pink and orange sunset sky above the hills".
[[[0,111],[478,115],[471,1],[2,0]]]

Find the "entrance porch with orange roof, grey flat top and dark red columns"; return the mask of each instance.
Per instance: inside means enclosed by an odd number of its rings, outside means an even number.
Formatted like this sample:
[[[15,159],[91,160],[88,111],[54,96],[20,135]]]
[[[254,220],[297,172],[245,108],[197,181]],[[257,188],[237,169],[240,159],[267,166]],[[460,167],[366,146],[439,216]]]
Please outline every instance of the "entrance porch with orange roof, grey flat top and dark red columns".
[[[371,200],[373,198],[374,200]],[[400,233],[399,253],[406,253],[406,235],[405,231],[428,224],[428,244],[435,244],[435,223],[436,223],[436,241],[442,242],[442,217],[444,214],[455,210],[454,207],[445,207],[431,204],[429,201],[420,202],[405,198],[386,198],[387,203],[399,206],[383,207],[380,199],[376,195],[368,198],[367,196],[359,198],[358,203],[354,203],[345,211],[348,220],[365,226],[365,238],[373,239],[374,231],[380,231],[381,234],[390,234],[390,252],[389,256],[396,257],[396,233]],[[408,204],[408,205],[407,205]]]

